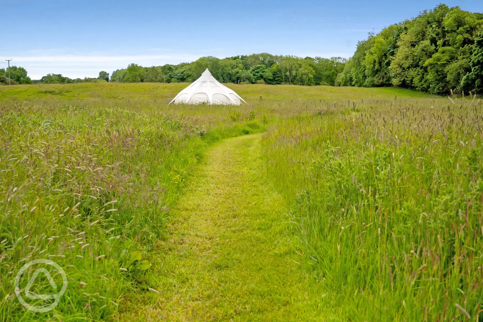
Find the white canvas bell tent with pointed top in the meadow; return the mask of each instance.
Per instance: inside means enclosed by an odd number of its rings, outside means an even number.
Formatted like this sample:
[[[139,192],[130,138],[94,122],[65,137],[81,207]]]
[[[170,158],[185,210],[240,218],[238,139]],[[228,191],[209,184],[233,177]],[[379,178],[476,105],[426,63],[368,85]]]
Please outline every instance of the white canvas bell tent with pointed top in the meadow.
[[[218,82],[211,72],[206,69],[199,79],[179,92],[171,100],[170,104],[199,104],[206,102],[218,105],[240,105],[241,100],[245,102],[237,93]]]

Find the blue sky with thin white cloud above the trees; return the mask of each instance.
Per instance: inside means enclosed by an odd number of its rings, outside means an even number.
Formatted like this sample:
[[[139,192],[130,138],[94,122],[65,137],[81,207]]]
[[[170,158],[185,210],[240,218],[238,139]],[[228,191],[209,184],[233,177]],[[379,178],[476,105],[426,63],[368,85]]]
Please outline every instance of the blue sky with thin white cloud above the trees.
[[[368,32],[412,18],[440,1],[0,0],[4,59],[32,79],[47,73],[97,77],[129,63],[158,66],[200,56],[268,52],[342,56]],[[483,12],[481,0],[448,6]]]

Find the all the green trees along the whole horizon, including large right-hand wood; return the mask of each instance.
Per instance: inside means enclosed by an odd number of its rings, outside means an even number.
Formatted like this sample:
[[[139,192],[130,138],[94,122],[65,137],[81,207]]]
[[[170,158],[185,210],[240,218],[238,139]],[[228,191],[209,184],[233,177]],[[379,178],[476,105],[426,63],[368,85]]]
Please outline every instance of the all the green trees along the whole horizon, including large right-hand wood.
[[[360,41],[349,60],[341,57],[274,56],[268,53],[191,63],[106,71],[98,78],[72,80],[48,74],[33,83],[192,82],[205,69],[223,83],[336,86],[398,86],[431,94],[483,93],[483,14],[440,4]],[[12,84],[29,84],[27,71],[11,67]],[[0,83],[8,71],[0,69]]]

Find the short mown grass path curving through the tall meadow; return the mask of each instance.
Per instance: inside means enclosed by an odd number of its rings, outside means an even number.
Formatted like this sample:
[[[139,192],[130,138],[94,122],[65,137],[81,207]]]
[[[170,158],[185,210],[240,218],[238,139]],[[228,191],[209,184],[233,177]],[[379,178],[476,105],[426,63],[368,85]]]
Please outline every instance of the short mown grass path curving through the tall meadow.
[[[153,254],[161,294],[126,320],[317,319],[320,296],[310,294],[310,277],[296,263],[297,237],[263,175],[259,143],[259,134],[248,135],[208,151]]]

